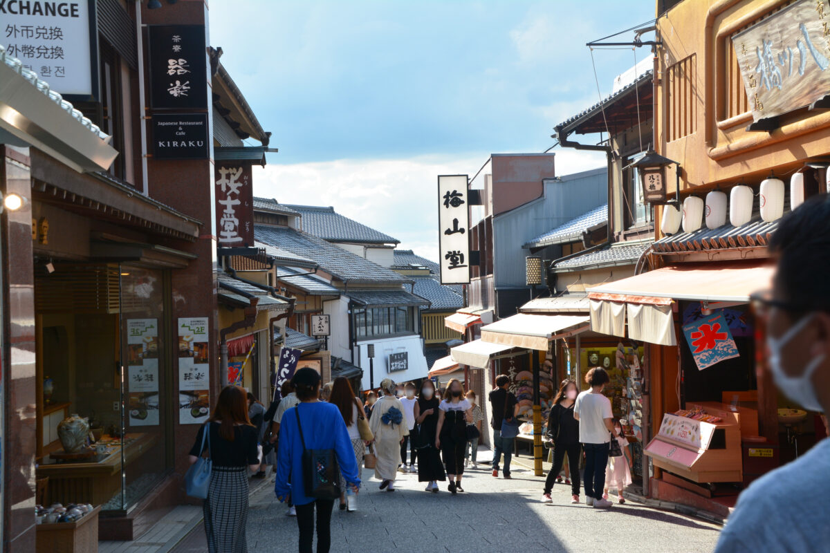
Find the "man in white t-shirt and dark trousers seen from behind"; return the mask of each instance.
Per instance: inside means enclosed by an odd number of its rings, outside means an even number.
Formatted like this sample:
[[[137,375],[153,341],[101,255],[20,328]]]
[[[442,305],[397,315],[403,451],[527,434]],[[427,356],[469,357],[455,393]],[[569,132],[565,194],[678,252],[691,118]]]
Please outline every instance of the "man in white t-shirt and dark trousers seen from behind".
[[[603,499],[608,447],[614,429],[611,400],[603,395],[603,387],[608,381],[605,369],[593,367],[585,375],[585,382],[591,389],[577,395],[574,403],[574,419],[579,420],[579,441],[585,451],[585,503],[600,508],[613,505]]]

